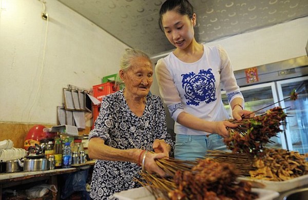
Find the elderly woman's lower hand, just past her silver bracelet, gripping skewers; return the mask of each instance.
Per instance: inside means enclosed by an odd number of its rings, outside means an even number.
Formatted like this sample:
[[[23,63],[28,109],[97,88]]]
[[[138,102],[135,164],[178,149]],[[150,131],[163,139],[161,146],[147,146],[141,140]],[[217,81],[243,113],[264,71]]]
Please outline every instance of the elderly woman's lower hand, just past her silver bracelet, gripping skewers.
[[[148,171],[149,173],[157,173],[160,176],[164,177],[166,173],[155,162],[156,159],[160,159],[164,157],[165,157],[164,153],[147,152],[145,161],[144,161],[144,166],[142,168]]]

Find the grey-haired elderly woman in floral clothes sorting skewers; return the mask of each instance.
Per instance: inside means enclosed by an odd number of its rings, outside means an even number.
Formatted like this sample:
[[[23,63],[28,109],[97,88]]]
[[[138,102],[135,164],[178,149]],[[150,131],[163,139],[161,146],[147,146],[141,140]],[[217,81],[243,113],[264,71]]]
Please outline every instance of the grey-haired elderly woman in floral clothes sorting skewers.
[[[126,49],[120,68],[125,88],[104,97],[89,135],[89,157],[98,159],[91,181],[93,199],[112,199],[115,192],[140,187],[133,177],[139,178],[142,169],[164,176],[155,159],[168,157],[171,149],[163,103],[160,97],[149,95],[150,58],[142,51]]]

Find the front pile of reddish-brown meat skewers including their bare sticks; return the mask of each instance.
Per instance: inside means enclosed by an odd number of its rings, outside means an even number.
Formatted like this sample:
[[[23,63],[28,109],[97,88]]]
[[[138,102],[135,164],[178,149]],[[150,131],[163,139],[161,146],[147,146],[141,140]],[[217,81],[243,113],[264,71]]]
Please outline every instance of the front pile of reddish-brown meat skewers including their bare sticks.
[[[176,159],[159,159],[158,165],[168,172],[168,177],[142,173],[146,185],[159,199],[255,199],[251,184],[237,181],[238,172],[232,165],[210,159],[196,162]],[[179,164],[180,167],[177,167]],[[167,167],[166,167],[167,166]],[[181,168],[181,169],[179,169]]]

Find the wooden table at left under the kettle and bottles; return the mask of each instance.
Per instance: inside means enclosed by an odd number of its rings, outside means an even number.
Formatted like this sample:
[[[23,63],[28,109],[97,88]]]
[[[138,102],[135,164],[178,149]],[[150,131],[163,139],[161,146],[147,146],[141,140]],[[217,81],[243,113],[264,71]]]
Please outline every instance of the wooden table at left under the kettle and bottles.
[[[85,164],[74,165],[71,168],[52,169],[45,171],[0,173],[0,200],[2,200],[2,192],[4,188],[10,188],[44,180],[47,180],[48,184],[56,186],[58,190],[56,199],[60,199],[60,188],[59,184],[57,183],[57,176],[89,168],[90,166],[94,165],[94,163],[95,161],[87,161]]]

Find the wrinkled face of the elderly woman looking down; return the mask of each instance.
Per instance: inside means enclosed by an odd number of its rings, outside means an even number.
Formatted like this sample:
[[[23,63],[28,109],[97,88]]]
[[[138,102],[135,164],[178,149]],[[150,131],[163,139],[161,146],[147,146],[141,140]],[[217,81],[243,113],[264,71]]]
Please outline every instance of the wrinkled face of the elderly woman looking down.
[[[151,62],[144,57],[134,58],[130,68],[124,72],[125,90],[133,96],[145,97],[153,82]]]

